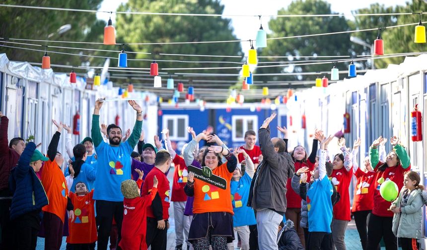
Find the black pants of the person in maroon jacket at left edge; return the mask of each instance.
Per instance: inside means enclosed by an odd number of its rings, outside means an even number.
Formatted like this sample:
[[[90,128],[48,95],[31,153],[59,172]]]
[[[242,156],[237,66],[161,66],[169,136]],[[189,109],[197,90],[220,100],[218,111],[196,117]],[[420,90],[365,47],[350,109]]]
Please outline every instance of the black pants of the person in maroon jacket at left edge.
[[[0,199],[0,227],[1,227],[1,244],[0,249],[14,249],[12,245],[12,225],[10,223],[10,204],[12,199]]]

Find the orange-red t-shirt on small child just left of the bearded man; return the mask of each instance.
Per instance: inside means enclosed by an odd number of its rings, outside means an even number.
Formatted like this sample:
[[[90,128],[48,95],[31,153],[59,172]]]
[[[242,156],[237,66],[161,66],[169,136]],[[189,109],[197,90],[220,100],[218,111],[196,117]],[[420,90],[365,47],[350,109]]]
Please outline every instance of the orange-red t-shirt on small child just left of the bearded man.
[[[71,202],[74,206],[74,220],[69,219],[70,235],[67,237],[67,243],[88,244],[96,242],[95,201],[92,197],[93,189],[84,196],[70,192]]]

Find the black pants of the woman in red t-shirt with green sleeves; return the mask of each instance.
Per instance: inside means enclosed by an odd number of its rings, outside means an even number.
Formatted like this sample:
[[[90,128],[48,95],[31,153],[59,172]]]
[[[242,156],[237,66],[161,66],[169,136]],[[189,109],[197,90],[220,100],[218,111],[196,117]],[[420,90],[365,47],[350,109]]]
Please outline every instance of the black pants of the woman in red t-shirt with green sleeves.
[[[386,250],[397,249],[396,237],[392,231],[392,222],[393,217],[376,216],[372,213],[369,215],[367,250],[377,250],[381,238],[384,238]]]

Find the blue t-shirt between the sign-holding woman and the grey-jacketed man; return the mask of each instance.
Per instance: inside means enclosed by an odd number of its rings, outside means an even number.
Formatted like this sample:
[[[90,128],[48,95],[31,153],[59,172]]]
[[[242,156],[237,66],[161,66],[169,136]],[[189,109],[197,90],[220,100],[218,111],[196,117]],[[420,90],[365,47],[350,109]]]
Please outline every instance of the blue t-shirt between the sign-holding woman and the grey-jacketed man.
[[[245,173],[238,182],[231,180],[231,203],[233,204],[233,226],[241,227],[256,225],[255,213],[252,207],[248,207],[249,187],[252,178]]]

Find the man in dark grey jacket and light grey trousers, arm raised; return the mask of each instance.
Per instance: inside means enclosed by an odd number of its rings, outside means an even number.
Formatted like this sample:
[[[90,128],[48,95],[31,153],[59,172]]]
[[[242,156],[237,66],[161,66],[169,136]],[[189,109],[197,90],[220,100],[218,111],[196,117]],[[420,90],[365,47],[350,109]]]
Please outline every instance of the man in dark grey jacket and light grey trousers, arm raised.
[[[285,141],[270,139],[270,122],[267,118],[258,131],[263,161],[257,168],[249,190],[248,206],[256,211],[258,245],[262,250],[277,250],[277,232],[286,211],[286,181],[293,177],[295,167]]]

